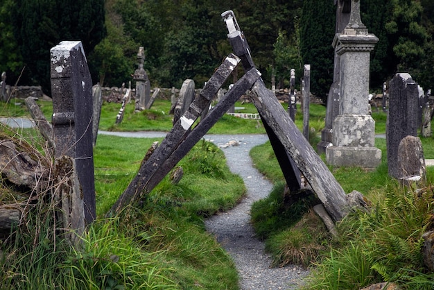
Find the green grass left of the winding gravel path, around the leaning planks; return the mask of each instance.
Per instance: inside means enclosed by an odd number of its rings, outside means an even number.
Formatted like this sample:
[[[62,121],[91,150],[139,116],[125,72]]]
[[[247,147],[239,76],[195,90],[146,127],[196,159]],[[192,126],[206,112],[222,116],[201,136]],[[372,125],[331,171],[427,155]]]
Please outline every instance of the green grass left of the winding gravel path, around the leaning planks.
[[[64,239],[51,194],[40,196],[1,244],[0,288],[238,289],[232,260],[205,232],[202,219],[233,207],[245,187],[213,144],[199,142],[180,162],[179,184],[166,177],[139,203],[103,218],[154,141],[98,137],[98,219],[81,237],[82,246],[72,248]],[[0,191],[3,202],[6,189]]]

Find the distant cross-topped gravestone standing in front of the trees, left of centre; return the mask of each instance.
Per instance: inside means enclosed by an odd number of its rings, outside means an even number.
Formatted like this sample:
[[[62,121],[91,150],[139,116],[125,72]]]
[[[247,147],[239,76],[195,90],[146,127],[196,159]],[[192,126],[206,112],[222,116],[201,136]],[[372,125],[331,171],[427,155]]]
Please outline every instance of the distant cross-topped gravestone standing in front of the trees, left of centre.
[[[144,47],[139,47],[139,53],[137,53],[137,60],[139,61],[139,68],[134,71],[132,78],[136,81],[136,111],[143,111],[146,108],[146,104],[150,99],[150,83],[148,74],[144,69],[145,52]]]

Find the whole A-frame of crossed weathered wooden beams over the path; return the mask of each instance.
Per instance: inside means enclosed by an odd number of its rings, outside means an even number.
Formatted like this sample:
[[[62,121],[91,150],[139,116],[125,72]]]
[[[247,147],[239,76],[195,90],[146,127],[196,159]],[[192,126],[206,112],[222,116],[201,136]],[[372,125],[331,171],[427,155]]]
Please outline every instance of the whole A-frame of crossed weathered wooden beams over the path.
[[[231,53],[225,58],[200,94],[174,124],[162,144],[148,151],[137,176],[130,182],[107,215],[119,212],[125,205],[138,201],[141,196],[148,194],[245,91],[251,89],[254,94],[252,101],[261,116],[290,191],[302,188],[300,184],[300,173],[302,173],[331,218],[339,221],[349,210],[345,191],[295,126],[293,120],[277,101],[276,96],[266,88],[259,71],[254,67],[248,42],[236,22],[234,12],[231,10],[223,12],[222,17],[229,31],[227,36],[234,54]],[[193,128],[193,123],[205,108],[209,108],[218,89],[225,83],[239,62],[246,71],[245,75]]]

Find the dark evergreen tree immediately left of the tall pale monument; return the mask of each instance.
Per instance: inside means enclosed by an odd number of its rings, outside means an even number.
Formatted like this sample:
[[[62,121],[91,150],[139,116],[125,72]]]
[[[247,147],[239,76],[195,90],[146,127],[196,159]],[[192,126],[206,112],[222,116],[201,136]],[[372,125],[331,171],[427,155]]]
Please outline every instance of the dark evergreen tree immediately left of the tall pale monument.
[[[305,0],[300,23],[300,51],[305,64],[311,65],[311,92],[327,100],[333,83],[331,46],[335,35],[336,7],[333,1]]]

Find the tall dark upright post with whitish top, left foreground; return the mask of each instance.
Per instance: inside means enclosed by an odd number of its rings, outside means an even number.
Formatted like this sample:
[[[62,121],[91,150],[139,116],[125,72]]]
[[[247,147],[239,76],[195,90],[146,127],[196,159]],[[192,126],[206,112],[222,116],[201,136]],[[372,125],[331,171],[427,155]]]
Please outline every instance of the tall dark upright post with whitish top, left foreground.
[[[69,156],[76,169],[78,191],[73,207],[84,211],[85,221],[76,220],[71,228],[92,223],[96,218],[94,157],[92,152],[92,78],[83,45],[64,41],[51,49],[51,94],[55,157]],[[61,167],[61,165],[60,165]],[[62,196],[64,198],[64,196]],[[69,201],[72,203],[72,201]],[[81,204],[80,204],[81,203]],[[67,206],[62,202],[62,207]]]

